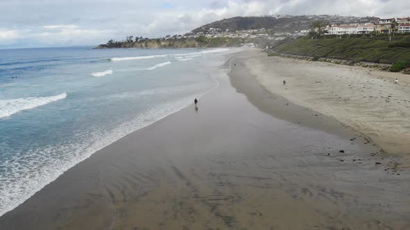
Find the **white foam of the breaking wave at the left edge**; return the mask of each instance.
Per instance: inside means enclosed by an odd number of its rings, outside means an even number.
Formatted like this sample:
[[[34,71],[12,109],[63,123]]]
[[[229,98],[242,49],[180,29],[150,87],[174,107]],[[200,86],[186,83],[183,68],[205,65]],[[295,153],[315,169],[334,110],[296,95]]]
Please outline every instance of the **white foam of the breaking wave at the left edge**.
[[[42,105],[47,105],[56,100],[67,97],[67,94],[58,94],[56,96],[31,97],[31,98],[14,98],[0,100],[0,118],[11,116],[27,109],[33,109]]]

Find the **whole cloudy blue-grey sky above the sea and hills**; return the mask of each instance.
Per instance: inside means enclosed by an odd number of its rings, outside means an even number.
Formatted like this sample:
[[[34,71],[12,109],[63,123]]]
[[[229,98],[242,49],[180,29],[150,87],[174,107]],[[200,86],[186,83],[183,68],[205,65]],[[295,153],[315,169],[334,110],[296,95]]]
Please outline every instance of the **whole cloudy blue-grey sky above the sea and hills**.
[[[0,48],[78,46],[186,33],[235,16],[410,16],[409,0],[0,0]]]

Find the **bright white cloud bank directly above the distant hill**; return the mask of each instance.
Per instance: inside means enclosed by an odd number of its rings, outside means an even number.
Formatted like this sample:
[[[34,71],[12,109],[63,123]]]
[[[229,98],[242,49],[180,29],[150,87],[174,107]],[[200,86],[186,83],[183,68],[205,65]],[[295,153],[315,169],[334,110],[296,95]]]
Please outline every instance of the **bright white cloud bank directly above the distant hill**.
[[[410,16],[410,1],[405,0],[228,0],[210,2],[197,10],[167,10],[154,13],[147,23],[134,23],[128,33],[167,35],[186,33],[204,24],[236,16],[260,15],[346,15],[401,17]]]

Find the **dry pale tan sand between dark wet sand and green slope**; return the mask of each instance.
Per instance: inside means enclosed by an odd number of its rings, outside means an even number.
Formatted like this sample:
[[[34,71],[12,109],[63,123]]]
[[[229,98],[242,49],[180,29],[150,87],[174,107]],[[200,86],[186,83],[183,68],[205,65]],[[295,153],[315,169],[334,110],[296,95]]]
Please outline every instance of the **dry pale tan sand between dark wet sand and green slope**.
[[[244,55],[249,57],[246,65],[252,75],[268,91],[336,118],[369,136],[388,153],[410,156],[408,75],[266,57],[259,51]],[[398,84],[393,83],[395,78]]]

